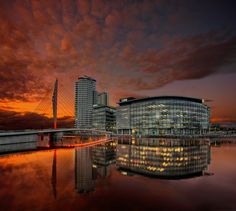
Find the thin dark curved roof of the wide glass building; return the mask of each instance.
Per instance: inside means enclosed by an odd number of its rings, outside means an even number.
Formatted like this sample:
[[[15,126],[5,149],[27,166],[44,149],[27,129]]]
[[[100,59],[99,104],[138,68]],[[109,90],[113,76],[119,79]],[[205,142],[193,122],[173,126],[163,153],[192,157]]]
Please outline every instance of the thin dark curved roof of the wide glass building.
[[[183,97],[183,96],[155,96],[155,97],[146,97],[146,98],[123,98],[118,104],[119,105],[128,105],[132,103],[142,102],[142,101],[151,101],[151,100],[184,100],[196,103],[203,103],[202,99],[192,98],[192,97]]]

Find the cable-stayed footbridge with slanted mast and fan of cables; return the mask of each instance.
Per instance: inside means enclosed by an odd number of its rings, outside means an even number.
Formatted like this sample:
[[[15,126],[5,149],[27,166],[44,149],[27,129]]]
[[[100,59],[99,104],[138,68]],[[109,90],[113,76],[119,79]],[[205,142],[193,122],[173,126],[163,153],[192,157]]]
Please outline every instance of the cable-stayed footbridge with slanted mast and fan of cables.
[[[61,140],[65,133],[86,134],[90,136],[105,136],[110,137],[112,132],[94,130],[90,128],[58,128],[58,114],[60,116],[67,116],[73,118],[72,107],[74,102],[72,97],[65,90],[59,91],[58,80],[55,81],[52,94],[50,92],[42,98],[35,108],[34,113],[45,116],[52,116],[50,119],[51,127],[47,129],[38,130],[24,130],[24,131],[4,131],[0,133],[0,152],[1,149],[8,149],[12,144],[29,144],[43,140],[44,136],[48,137],[49,141]],[[50,100],[49,100],[50,99]],[[42,125],[43,128],[43,125]]]

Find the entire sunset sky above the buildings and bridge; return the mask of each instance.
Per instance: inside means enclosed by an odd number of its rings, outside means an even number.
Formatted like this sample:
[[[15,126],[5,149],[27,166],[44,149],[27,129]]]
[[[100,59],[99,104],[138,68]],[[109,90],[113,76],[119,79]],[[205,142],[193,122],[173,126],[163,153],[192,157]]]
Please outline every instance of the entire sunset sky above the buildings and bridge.
[[[49,125],[56,78],[61,124],[72,122],[82,75],[112,106],[197,97],[212,122],[236,122],[235,10],[234,0],[0,0],[0,130]]]

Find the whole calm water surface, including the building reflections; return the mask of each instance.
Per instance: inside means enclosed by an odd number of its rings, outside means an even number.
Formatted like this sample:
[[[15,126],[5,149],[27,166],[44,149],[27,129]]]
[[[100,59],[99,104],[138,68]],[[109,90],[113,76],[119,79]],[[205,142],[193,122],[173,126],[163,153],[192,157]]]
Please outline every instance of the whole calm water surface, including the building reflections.
[[[236,144],[119,140],[0,156],[1,210],[236,210]],[[163,169],[164,170],[163,170]]]

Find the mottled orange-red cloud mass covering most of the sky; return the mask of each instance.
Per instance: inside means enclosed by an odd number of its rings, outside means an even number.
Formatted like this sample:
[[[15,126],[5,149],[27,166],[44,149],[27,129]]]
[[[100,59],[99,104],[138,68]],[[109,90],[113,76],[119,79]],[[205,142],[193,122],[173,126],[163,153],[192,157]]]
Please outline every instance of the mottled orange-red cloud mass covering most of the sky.
[[[176,8],[162,0],[1,2],[0,105],[32,111],[56,77],[73,99],[78,75],[91,75],[114,105],[176,80],[225,73],[235,62],[234,31],[174,33],[188,21]],[[73,113],[71,100],[69,107]]]

